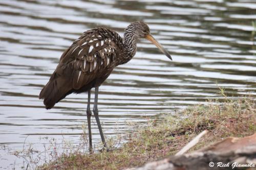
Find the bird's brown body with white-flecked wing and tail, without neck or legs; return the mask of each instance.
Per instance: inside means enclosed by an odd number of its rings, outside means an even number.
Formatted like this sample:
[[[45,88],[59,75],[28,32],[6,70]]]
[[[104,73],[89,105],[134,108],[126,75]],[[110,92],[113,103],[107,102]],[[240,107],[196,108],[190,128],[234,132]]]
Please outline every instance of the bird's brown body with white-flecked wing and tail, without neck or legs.
[[[87,91],[101,84],[115,67],[119,45],[108,30],[84,32],[62,54],[39,99],[45,99],[44,104],[50,109],[72,92]]]

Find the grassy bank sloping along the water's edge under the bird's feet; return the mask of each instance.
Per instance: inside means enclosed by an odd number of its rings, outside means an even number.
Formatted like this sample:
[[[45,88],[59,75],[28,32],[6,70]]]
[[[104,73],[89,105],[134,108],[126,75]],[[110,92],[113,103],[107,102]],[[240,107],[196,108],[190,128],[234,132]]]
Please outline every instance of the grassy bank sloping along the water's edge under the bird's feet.
[[[199,104],[189,107],[161,122],[148,121],[145,127],[124,136],[127,142],[118,150],[91,155],[75,150],[55,157],[39,169],[122,169],[141,166],[175,154],[205,129],[209,130],[208,134],[191,150],[224,137],[254,134],[255,101],[250,98],[231,99],[224,91],[220,88],[223,98],[209,101],[207,106]],[[111,143],[113,145],[113,140]]]

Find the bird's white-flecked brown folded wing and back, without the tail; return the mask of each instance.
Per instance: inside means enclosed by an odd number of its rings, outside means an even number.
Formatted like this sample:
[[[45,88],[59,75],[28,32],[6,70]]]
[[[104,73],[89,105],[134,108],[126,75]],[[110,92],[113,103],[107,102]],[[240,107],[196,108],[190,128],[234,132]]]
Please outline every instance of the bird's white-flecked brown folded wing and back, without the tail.
[[[73,42],[62,54],[56,73],[69,77],[74,89],[90,83],[113,70],[120,46],[107,32],[94,29]]]

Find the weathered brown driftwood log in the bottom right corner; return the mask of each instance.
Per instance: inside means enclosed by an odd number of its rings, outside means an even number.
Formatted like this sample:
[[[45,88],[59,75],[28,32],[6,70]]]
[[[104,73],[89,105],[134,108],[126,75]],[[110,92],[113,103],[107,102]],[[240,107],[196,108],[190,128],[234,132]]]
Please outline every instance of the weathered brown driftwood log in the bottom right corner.
[[[198,139],[199,138],[200,136]],[[195,144],[196,142],[191,143]],[[191,144],[191,146],[193,146],[193,144]],[[182,149],[183,153],[188,150],[184,148]],[[182,152],[180,153],[182,154]],[[229,137],[193,153],[170,156],[166,159],[150,162],[142,167],[132,169],[256,169],[256,133],[244,138]]]

